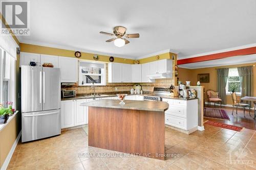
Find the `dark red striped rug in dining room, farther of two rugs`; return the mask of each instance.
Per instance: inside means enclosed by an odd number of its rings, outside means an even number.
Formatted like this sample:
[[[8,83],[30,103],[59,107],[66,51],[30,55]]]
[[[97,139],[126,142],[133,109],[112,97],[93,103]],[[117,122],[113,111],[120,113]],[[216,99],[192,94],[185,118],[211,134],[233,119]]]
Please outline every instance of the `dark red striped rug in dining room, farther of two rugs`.
[[[227,115],[227,112],[224,109],[216,109],[209,107],[204,108],[204,117],[230,120]]]

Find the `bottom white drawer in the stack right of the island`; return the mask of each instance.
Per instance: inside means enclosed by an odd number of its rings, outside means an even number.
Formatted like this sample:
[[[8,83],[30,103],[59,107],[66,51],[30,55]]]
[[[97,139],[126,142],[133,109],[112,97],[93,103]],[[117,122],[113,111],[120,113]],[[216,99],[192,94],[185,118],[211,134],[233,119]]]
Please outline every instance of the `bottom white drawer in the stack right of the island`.
[[[181,128],[186,130],[186,119],[178,116],[173,115],[166,115],[165,114],[165,124],[170,125],[173,127]]]

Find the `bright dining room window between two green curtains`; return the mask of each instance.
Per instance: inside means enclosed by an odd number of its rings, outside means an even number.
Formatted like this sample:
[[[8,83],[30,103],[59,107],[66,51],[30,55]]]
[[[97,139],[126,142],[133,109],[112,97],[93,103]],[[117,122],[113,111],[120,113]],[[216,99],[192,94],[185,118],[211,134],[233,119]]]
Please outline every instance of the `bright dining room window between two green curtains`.
[[[230,94],[233,88],[236,88],[236,90],[234,91],[237,92],[237,94],[241,94],[242,88],[241,88],[240,78],[238,74],[238,68],[229,68],[228,70],[226,94]]]

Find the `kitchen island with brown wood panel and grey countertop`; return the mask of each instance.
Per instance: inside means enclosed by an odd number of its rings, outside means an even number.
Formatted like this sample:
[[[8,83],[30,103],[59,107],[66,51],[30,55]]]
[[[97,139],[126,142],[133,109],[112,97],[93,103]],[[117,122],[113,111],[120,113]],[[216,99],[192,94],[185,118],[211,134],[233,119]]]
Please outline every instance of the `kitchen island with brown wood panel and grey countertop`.
[[[98,100],[89,107],[89,145],[164,160],[166,102]]]

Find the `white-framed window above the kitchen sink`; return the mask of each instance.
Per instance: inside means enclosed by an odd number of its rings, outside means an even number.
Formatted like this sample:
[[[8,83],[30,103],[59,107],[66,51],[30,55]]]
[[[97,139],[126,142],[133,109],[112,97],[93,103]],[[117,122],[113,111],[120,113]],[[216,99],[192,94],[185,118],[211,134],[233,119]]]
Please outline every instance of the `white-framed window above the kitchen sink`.
[[[79,86],[106,85],[105,64],[79,62]]]

